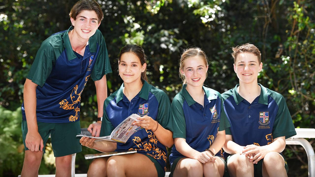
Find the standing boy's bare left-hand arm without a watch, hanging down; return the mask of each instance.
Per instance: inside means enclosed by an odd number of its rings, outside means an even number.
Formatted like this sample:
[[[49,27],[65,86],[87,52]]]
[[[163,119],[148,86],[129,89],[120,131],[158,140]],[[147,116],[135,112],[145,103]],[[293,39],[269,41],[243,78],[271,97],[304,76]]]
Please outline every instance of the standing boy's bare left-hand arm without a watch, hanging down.
[[[24,108],[27,122],[27,134],[25,139],[26,147],[33,151],[43,151],[43,139],[38,133],[36,119],[36,87],[30,79],[24,83]]]

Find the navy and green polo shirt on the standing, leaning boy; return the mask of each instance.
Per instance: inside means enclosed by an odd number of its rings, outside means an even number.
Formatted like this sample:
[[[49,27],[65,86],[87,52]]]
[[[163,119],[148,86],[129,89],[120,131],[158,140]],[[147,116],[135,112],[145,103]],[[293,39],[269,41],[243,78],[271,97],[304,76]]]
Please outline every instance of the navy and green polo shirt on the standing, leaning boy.
[[[112,72],[102,33],[96,30],[89,38],[84,56],[72,50],[68,33],[55,33],[39,48],[27,75],[36,89],[38,122],[67,123],[78,121],[81,93],[89,77],[100,80]],[[26,120],[24,102],[22,117]]]

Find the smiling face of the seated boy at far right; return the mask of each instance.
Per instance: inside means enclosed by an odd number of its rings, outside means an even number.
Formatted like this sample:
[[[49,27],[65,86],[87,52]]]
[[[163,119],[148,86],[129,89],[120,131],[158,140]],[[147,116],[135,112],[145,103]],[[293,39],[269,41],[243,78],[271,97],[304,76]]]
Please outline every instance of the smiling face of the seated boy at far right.
[[[262,63],[259,63],[258,57],[255,54],[247,52],[239,53],[233,65],[240,84],[257,84],[257,76],[262,69]]]

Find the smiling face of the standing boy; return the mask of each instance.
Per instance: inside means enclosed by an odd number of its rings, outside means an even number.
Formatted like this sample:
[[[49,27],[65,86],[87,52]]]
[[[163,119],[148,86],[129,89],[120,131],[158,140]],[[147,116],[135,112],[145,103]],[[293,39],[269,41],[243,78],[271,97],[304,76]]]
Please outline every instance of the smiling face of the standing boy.
[[[89,39],[95,34],[100,26],[98,16],[95,11],[83,10],[77,15],[76,20],[70,18],[74,33],[81,39]]]

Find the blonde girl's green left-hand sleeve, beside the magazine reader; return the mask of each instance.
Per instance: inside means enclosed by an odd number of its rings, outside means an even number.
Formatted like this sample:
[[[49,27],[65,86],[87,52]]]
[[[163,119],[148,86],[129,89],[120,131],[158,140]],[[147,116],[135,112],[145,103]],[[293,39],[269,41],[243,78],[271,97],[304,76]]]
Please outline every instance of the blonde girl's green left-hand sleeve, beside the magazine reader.
[[[173,138],[186,139],[186,121],[183,110],[183,104],[180,100],[172,101],[172,117],[173,117]]]

